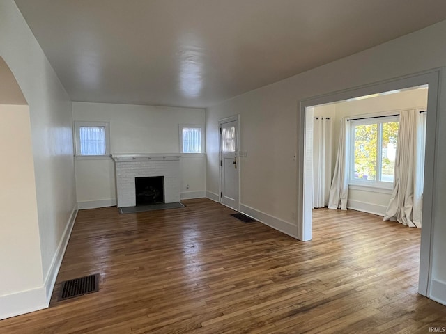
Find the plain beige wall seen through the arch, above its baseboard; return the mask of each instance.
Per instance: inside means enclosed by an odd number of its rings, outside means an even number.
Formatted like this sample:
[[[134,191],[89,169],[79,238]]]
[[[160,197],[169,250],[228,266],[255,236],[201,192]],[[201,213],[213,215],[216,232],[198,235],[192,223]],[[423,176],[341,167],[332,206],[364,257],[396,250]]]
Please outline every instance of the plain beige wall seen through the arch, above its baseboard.
[[[1,301],[42,287],[43,273],[29,107],[0,105],[0,120]]]

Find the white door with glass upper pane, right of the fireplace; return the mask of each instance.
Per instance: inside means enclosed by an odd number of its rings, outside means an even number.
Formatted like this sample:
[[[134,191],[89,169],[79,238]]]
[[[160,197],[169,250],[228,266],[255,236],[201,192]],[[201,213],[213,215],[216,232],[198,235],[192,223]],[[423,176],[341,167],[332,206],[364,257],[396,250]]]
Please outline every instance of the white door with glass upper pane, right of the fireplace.
[[[238,210],[238,118],[220,121],[221,202]]]

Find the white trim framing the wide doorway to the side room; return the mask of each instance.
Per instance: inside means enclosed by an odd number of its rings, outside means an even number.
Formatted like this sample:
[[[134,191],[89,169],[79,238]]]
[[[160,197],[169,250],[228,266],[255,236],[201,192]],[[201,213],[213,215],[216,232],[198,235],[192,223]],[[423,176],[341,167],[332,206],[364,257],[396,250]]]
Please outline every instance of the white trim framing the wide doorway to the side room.
[[[423,296],[429,296],[429,287],[431,285],[431,255],[432,255],[432,219],[434,212],[433,191],[436,184],[436,138],[438,136],[438,101],[440,96],[440,78],[442,69],[411,74],[404,77],[380,81],[378,83],[359,86],[341,90],[326,95],[310,97],[300,101],[298,110],[298,239],[308,241],[312,239],[312,203],[311,193],[308,194],[309,180],[305,180],[305,109],[319,104],[328,104],[351,99],[354,97],[383,93],[390,90],[401,88],[410,88],[415,86],[429,85],[427,106],[428,116],[426,125],[426,152],[424,161],[424,193],[423,193],[423,217],[422,232],[420,240],[420,273],[418,279],[418,293]]]

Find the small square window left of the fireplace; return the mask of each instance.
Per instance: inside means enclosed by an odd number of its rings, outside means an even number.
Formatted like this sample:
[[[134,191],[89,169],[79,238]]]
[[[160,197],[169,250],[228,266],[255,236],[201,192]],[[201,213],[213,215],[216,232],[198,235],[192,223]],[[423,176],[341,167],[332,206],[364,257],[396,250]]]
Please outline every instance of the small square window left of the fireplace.
[[[109,150],[109,123],[75,122],[76,155],[85,157],[107,156]]]

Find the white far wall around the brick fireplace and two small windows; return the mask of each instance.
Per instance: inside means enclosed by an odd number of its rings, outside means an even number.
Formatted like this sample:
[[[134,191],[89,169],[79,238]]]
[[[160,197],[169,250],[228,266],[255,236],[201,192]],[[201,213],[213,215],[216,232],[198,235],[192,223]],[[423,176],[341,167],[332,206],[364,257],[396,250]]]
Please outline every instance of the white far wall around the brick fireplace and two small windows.
[[[180,124],[205,124],[204,109],[72,102],[73,119],[110,123],[110,148],[122,153],[179,153]],[[116,205],[116,180],[112,159],[75,161],[79,207]],[[205,196],[206,164],[201,155],[180,159],[181,196]],[[187,184],[189,189],[187,189]]]

